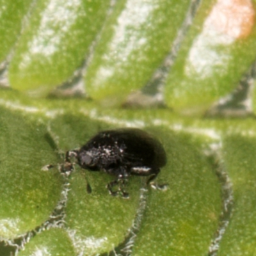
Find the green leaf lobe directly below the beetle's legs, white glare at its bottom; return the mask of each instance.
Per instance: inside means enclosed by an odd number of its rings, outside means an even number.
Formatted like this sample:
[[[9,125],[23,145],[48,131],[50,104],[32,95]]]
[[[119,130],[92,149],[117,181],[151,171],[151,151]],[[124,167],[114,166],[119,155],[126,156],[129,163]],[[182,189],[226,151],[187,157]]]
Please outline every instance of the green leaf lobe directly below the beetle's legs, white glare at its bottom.
[[[82,171],[84,172],[84,170]],[[130,199],[110,196],[106,184],[113,179],[103,173],[86,173],[92,194],[86,191],[81,173],[72,174],[66,209],[68,232],[83,255],[95,255],[113,250],[122,243],[138,208],[140,179],[129,179]]]

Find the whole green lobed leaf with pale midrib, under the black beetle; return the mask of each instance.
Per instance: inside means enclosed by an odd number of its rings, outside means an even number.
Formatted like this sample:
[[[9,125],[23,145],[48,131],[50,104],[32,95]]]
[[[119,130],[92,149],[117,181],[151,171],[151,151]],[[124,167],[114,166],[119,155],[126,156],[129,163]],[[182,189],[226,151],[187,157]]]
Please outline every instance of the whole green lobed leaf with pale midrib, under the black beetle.
[[[236,108],[253,113],[254,0],[3,0],[0,18],[2,61],[21,33],[0,67],[0,83],[9,77],[16,90],[0,92],[1,256],[15,250],[1,250],[3,239],[35,229],[12,241],[26,242],[20,255],[255,254],[255,118],[202,118],[238,83],[248,90]],[[63,81],[85,82],[92,100],[42,99]],[[34,89],[37,99],[19,92]],[[117,108],[132,91],[165,97],[173,111]],[[108,195],[113,177],[102,172],[76,166],[63,179],[57,168],[41,171],[116,127],[162,141],[168,164],[157,182],[166,191],[145,191],[145,179],[131,177],[131,198],[122,200]]]

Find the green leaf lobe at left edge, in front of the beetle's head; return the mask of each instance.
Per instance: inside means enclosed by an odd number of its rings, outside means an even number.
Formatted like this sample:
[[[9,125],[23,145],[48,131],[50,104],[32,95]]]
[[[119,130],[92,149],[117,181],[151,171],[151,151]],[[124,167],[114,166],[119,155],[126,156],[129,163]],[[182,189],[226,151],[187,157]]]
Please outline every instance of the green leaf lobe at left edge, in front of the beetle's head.
[[[60,175],[42,172],[57,161],[44,125],[1,107],[0,237],[15,238],[41,225],[60,199]]]

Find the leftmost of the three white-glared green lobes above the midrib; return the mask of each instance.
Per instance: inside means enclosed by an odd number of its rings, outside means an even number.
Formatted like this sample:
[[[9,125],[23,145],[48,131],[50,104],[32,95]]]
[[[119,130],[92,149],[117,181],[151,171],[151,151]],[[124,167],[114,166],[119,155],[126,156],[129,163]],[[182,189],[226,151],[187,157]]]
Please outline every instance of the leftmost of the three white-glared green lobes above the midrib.
[[[109,7],[108,1],[40,0],[19,40],[10,67],[13,88],[56,86],[89,54]]]

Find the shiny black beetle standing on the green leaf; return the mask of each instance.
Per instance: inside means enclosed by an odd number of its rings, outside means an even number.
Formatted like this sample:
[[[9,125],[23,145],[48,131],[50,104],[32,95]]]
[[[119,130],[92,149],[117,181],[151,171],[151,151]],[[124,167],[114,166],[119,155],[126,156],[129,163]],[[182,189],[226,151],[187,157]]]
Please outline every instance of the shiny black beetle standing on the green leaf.
[[[99,132],[83,147],[67,151],[65,163],[60,165],[60,172],[69,175],[75,163],[86,170],[114,175],[116,179],[107,185],[110,195],[129,198],[124,187],[130,175],[149,176],[147,184],[153,188],[161,188],[152,181],[166,164],[166,154],[163,145],[147,132],[136,128],[122,128]],[[53,166],[49,165],[47,169],[51,167]],[[117,189],[114,190],[114,187]]]

